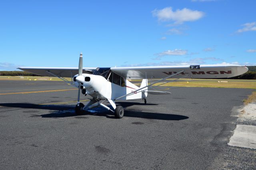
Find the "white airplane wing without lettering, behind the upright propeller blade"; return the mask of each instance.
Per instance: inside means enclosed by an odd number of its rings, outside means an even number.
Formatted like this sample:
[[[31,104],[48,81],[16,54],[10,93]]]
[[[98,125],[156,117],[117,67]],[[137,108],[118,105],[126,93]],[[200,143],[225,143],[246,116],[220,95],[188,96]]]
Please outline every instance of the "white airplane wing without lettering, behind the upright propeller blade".
[[[20,67],[18,69],[48,77],[52,77],[53,75],[59,77],[73,77],[78,74],[78,67]],[[94,67],[83,68],[83,73],[92,74],[95,69]]]

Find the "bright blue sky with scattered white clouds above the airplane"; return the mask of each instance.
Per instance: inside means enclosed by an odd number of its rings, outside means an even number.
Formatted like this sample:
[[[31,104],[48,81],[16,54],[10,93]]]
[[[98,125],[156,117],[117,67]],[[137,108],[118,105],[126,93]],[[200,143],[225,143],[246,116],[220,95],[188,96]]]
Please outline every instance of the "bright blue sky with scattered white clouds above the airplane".
[[[0,3],[0,70],[256,65],[255,0]]]

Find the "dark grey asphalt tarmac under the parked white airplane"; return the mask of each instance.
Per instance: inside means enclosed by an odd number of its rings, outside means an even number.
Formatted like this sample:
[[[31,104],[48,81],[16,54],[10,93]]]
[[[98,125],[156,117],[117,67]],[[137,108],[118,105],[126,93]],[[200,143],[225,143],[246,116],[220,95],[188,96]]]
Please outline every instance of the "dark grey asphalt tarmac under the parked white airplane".
[[[65,82],[0,81],[0,169],[218,169],[234,106],[252,89],[162,87],[172,95],[77,116]],[[81,100],[88,100],[81,96]],[[86,101],[84,101],[86,103]],[[232,154],[233,151],[229,151]]]

